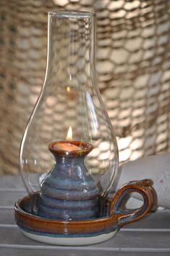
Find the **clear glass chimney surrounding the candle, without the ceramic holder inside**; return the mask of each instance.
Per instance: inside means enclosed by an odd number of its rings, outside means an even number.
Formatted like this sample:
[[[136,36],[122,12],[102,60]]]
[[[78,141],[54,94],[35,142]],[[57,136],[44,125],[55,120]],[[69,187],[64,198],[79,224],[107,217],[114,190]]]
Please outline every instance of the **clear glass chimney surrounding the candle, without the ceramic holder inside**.
[[[72,137],[67,137],[69,127]],[[20,171],[28,193],[41,191],[55,164],[56,172],[57,157],[48,145],[60,141],[70,145],[68,140],[93,146],[85,157],[83,175],[91,175],[98,193],[106,196],[116,177],[118,150],[95,80],[95,14],[90,12],[48,13],[45,81],[20,147]],[[67,145],[60,146],[69,155]],[[79,168],[77,175],[83,181]]]

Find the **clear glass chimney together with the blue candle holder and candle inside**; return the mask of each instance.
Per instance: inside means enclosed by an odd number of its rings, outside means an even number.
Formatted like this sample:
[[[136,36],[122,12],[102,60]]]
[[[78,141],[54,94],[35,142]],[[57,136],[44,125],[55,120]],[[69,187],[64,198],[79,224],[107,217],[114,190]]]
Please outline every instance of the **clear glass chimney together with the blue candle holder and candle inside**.
[[[33,212],[98,217],[117,169],[116,137],[95,77],[95,14],[49,12],[46,76],[20,147],[27,191],[40,194]]]

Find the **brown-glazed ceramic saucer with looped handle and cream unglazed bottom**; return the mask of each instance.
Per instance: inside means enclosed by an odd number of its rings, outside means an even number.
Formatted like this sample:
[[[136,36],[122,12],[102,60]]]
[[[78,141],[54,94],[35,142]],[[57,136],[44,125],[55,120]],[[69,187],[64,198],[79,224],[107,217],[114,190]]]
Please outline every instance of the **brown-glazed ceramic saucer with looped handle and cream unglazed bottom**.
[[[139,209],[122,211],[121,204],[127,194],[137,192],[143,196]],[[33,193],[15,204],[15,219],[23,233],[31,239],[59,245],[95,244],[110,239],[122,225],[144,217],[153,207],[154,193],[150,180],[125,184],[114,197],[106,199],[106,214],[88,220],[58,220],[34,215],[32,201],[40,199]]]

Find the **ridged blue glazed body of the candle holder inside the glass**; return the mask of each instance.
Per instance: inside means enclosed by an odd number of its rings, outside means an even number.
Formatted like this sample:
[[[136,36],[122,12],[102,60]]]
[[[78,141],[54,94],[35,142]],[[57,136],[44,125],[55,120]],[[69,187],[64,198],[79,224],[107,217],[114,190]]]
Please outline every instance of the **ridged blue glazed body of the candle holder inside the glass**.
[[[57,220],[85,220],[98,217],[98,188],[88,174],[87,153],[62,154],[41,185],[38,215]]]

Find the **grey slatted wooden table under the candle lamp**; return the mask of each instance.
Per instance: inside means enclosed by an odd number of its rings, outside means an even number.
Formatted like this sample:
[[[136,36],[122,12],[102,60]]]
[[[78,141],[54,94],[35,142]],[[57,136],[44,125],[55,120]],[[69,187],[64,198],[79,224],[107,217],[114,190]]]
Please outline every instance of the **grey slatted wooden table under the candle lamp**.
[[[18,176],[0,175],[0,256],[170,255],[170,210],[150,213],[124,226],[113,239],[82,247],[61,247],[28,239],[14,221],[14,202],[27,193]],[[169,195],[170,196],[170,195]]]

